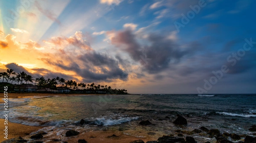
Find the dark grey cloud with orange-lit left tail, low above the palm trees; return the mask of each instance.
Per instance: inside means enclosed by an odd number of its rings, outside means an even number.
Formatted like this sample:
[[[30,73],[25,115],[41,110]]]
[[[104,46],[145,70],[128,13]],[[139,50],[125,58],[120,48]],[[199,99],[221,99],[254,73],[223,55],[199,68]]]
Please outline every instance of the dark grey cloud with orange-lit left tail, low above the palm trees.
[[[64,64],[61,60],[55,62],[43,59],[43,61],[49,65],[76,72],[84,82],[112,81],[113,79],[125,81],[128,78],[128,73],[119,67],[119,62],[107,55],[93,51],[75,58],[81,62],[81,65],[74,61],[69,61],[69,64]]]

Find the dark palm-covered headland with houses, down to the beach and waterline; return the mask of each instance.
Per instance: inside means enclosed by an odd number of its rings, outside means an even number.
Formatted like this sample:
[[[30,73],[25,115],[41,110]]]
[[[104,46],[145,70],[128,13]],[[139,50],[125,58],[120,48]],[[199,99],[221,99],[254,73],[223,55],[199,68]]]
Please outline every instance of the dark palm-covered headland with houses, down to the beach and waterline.
[[[12,76],[14,75],[14,76]],[[90,94],[127,94],[125,89],[112,89],[108,85],[95,85],[77,83],[73,80],[66,81],[56,77],[45,79],[43,76],[34,79],[25,72],[15,73],[13,69],[0,73],[2,83],[0,86],[8,86],[12,92],[39,92],[39,93],[90,93]],[[6,80],[6,82],[4,82]],[[11,83],[9,83],[11,82]],[[15,84],[13,84],[15,83]]]

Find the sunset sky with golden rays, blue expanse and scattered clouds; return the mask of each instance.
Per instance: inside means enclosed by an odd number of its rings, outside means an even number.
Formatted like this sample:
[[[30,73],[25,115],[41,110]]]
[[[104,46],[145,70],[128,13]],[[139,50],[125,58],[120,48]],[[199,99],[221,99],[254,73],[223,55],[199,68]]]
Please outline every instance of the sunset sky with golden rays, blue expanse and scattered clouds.
[[[0,72],[128,93],[256,93],[255,6],[255,0],[0,0]]]

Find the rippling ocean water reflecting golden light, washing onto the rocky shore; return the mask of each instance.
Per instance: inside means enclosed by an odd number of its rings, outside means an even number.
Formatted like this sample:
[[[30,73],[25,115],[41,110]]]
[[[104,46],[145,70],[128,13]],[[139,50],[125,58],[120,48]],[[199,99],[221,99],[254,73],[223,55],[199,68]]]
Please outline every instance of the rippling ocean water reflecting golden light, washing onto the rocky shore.
[[[0,110],[3,106],[1,105]],[[182,115],[187,126],[172,122]],[[1,118],[3,118],[1,116]],[[85,125],[78,126],[84,119]],[[138,123],[149,120],[151,126]],[[66,129],[110,130],[134,137],[175,135],[177,130],[192,131],[204,126],[221,133],[252,135],[256,124],[256,94],[143,94],[73,95],[9,99],[9,121],[29,126],[45,126],[54,138]],[[39,132],[39,131],[38,131]],[[255,134],[254,134],[255,135]],[[207,135],[190,135],[198,141],[214,142]]]

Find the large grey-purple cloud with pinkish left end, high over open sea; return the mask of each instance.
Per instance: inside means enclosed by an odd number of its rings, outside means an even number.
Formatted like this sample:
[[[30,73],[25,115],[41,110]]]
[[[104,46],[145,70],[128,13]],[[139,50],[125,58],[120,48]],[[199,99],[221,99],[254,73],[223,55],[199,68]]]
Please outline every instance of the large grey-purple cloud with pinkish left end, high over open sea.
[[[166,39],[166,35],[149,34],[147,45],[140,45],[136,35],[130,30],[118,31],[111,39],[111,43],[127,52],[131,58],[140,62],[143,70],[148,73],[159,73],[167,69],[170,64],[176,64],[180,59],[195,50],[201,48],[198,42],[188,44],[188,48],[181,49],[179,45],[171,39]]]

